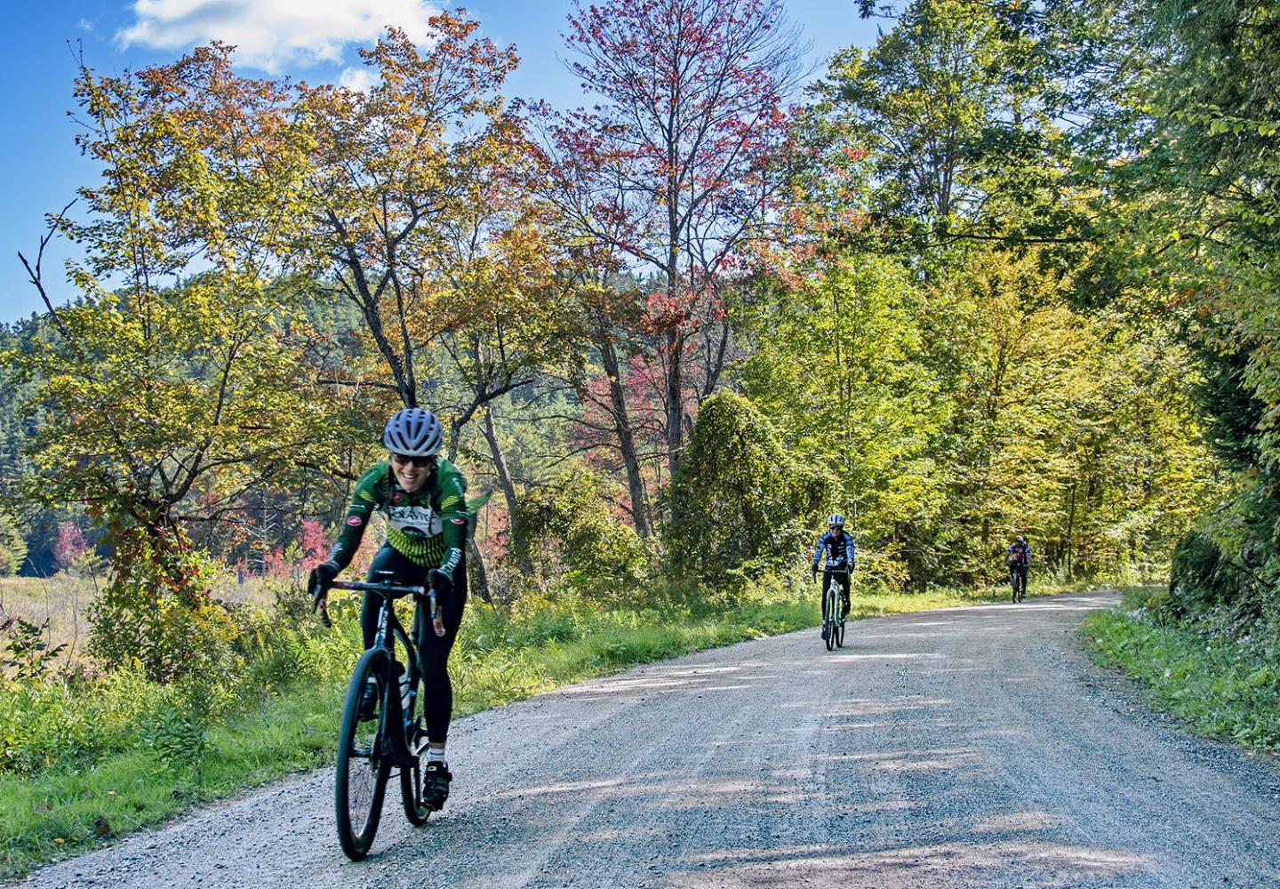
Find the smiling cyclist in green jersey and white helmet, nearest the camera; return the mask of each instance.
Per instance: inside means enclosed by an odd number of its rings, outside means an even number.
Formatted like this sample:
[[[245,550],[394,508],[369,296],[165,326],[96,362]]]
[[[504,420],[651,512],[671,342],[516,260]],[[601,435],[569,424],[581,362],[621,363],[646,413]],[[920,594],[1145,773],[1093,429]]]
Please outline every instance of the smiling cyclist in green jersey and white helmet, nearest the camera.
[[[444,806],[453,780],[444,758],[453,711],[448,658],[467,599],[467,484],[462,473],[439,456],[442,438],[440,421],[431,411],[406,407],[388,420],[383,443],[390,452],[389,459],[371,466],[356,482],[346,524],[329,561],[312,569],[307,583],[319,605],[326,598],[334,576],[355,556],[370,516],[383,512],[387,539],[369,566],[369,582],[380,579],[379,573],[390,571],[398,584],[430,583],[435,589],[444,635],[426,632],[429,619],[416,621],[421,628],[416,643],[422,661],[422,715],[429,746],[422,797],[433,808]],[[360,612],[365,648],[374,644],[380,607],[375,594],[365,593]],[[365,694],[367,701],[362,706],[372,712],[376,689],[370,687]]]

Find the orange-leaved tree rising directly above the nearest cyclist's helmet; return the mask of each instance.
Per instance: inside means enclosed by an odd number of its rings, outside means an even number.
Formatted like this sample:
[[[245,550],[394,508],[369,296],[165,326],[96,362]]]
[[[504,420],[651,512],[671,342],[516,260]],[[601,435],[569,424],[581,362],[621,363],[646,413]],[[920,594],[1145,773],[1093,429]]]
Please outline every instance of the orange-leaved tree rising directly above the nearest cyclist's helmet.
[[[315,122],[310,175],[312,250],[333,288],[360,309],[401,402],[419,401],[421,337],[438,332],[429,307],[442,242],[458,216],[488,200],[495,159],[518,150],[516,122],[497,90],[518,60],[515,47],[475,36],[479,23],[440,13],[425,51],[388,29],[365,63],[367,92],[305,90]],[[452,297],[466,297],[454,291]]]

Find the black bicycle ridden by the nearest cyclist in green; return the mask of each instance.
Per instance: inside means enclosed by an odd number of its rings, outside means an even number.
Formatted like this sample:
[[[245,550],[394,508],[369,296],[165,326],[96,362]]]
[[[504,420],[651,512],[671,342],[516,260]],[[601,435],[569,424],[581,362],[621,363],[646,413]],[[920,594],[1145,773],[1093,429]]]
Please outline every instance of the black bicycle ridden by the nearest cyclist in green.
[[[335,580],[333,589],[356,589],[376,593],[383,599],[378,614],[378,635],[372,647],[360,656],[351,683],[347,703],[342,708],[338,729],[338,762],[334,775],[334,810],[338,843],[352,861],[369,854],[381,819],[383,798],[392,770],[399,770],[401,799],[404,815],[415,826],[426,824],[431,810],[422,802],[422,769],[426,757],[426,729],[417,711],[417,689],[421,680],[417,647],[422,608],[413,615],[412,638],[396,617],[393,602],[412,596],[415,602],[430,605],[431,626],[444,635],[444,623],[436,607],[435,591],[393,583],[390,571],[378,583]],[[328,623],[328,614],[321,612]],[[397,660],[397,646],[404,652],[404,664]],[[374,693],[366,696],[365,689]]]

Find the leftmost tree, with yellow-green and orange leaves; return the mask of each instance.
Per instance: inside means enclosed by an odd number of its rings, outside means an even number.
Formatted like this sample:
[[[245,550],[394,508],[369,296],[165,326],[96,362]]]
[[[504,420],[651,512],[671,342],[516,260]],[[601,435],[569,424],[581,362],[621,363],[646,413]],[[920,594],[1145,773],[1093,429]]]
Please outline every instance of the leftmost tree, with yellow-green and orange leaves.
[[[9,354],[38,383],[28,492],[170,539],[292,471],[310,434],[285,343],[298,292],[274,282],[310,135],[285,90],[230,61],[215,45],[137,74],[82,70],[78,142],[102,182],[79,192],[83,222],[58,219],[87,254],[82,297]]]

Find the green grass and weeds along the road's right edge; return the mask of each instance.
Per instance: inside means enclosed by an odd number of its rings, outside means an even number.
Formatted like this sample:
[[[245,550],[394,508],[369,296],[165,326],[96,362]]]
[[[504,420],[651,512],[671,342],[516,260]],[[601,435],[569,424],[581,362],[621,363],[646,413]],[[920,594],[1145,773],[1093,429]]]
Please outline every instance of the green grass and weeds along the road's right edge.
[[[1144,698],[1204,735],[1280,752],[1280,638],[1231,637],[1158,621],[1143,603],[1155,588],[1125,591],[1116,608],[1085,617],[1085,649],[1135,679]]]

